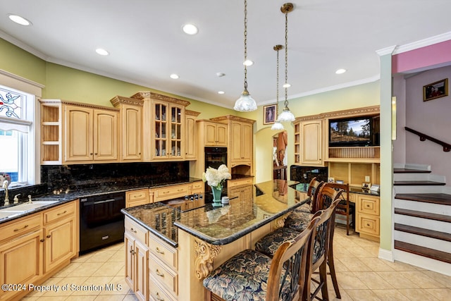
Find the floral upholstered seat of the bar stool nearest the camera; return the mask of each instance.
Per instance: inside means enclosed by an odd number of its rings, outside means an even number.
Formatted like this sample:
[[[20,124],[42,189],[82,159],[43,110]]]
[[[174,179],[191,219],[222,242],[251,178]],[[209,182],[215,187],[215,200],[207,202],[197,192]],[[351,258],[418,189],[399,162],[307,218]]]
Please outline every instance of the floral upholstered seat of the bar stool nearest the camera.
[[[204,286],[224,300],[266,300],[271,261],[265,254],[244,250],[214,269],[204,279]],[[285,275],[285,269],[282,275]],[[282,292],[290,293],[291,279],[288,274]],[[285,301],[283,297],[279,300]]]

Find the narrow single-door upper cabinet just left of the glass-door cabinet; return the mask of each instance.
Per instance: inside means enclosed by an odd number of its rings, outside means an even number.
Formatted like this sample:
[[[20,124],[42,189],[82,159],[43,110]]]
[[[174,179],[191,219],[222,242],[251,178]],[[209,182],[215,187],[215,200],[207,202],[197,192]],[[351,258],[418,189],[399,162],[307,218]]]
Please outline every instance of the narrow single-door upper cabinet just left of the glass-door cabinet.
[[[121,110],[121,161],[142,161],[142,106],[140,99],[116,96],[111,104]]]

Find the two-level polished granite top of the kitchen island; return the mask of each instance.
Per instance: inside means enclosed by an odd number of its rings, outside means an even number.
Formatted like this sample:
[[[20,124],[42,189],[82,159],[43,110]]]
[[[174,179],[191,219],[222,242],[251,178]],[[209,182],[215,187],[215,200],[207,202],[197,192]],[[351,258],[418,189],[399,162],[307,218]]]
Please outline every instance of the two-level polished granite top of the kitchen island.
[[[177,228],[209,242],[226,245],[278,219],[307,201],[296,202],[295,181],[273,180],[242,186],[252,190],[249,199],[230,199],[230,204],[178,211],[161,203],[123,209],[123,214],[140,223],[173,247],[178,246]],[[176,226],[176,227],[174,227]]]

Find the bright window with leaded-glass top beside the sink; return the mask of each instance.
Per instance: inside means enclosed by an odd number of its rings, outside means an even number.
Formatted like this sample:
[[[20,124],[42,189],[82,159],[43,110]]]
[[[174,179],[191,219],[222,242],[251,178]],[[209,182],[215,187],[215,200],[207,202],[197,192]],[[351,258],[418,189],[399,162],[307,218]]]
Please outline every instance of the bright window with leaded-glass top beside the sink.
[[[35,183],[35,96],[0,85],[0,175]]]

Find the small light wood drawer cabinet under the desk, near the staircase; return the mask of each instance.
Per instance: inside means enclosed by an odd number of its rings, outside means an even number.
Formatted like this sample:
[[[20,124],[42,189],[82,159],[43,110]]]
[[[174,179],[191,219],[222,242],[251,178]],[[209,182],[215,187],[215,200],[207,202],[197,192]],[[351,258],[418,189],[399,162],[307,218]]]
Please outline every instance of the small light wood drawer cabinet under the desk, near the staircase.
[[[357,194],[356,231],[364,238],[379,240],[380,198]]]

